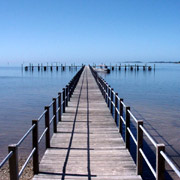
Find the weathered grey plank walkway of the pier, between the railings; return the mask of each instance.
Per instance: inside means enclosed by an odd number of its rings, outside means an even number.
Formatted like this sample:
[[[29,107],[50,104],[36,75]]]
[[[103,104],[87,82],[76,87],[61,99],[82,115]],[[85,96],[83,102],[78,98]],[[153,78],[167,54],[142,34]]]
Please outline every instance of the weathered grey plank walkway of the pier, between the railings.
[[[33,179],[141,179],[89,67]]]

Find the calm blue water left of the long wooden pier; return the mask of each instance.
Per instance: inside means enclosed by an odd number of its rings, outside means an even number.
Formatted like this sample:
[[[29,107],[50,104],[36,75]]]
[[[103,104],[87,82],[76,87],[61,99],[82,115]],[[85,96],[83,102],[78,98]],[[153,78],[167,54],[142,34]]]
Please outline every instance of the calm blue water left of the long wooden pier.
[[[37,119],[44,106],[62,90],[77,72],[22,71],[18,67],[0,68],[0,158],[7,154],[7,146],[17,143]],[[25,144],[31,146],[31,144]]]

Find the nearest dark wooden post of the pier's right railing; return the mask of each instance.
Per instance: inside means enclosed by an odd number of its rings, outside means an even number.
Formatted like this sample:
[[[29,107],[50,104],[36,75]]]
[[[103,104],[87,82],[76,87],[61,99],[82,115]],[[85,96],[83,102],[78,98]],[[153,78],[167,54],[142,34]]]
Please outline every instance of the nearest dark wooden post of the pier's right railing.
[[[157,144],[156,146],[156,180],[164,179],[165,172],[165,160],[160,154],[161,151],[165,151],[164,144]]]

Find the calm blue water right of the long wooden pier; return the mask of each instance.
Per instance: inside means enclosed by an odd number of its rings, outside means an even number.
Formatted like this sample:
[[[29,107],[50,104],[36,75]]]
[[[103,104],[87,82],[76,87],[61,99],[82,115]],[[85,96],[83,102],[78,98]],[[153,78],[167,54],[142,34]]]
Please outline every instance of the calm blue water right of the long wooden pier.
[[[131,107],[137,119],[144,120],[153,138],[166,145],[167,154],[180,168],[180,64],[156,64],[155,71],[122,68],[101,76]],[[147,155],[155,166],[154,152],[150,148]]]

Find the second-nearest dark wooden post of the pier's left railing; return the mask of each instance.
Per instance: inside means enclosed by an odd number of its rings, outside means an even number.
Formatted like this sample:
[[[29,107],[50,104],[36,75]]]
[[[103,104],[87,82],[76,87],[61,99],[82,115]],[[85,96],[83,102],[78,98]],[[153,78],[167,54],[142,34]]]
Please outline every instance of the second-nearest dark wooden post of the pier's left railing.
[[[33,154],[33,172],[34,174],[39,173],[39,143],[38,143],[38,120],[32,120],[32,125],[35,124],[32,130],[32,144],[33,148],[36,148]]]

